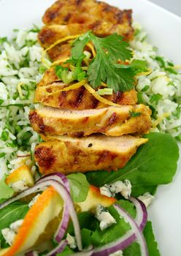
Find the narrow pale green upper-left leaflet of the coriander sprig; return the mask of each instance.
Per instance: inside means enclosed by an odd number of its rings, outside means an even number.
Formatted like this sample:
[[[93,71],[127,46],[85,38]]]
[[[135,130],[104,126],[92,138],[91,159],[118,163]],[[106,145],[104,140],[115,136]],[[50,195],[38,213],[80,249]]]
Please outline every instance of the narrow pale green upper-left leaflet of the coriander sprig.
[[[72,56],[74,59],[80,59],[85,48],[85,45],[90,41],[90,32],[83,34],[74,40],[72,44]]]

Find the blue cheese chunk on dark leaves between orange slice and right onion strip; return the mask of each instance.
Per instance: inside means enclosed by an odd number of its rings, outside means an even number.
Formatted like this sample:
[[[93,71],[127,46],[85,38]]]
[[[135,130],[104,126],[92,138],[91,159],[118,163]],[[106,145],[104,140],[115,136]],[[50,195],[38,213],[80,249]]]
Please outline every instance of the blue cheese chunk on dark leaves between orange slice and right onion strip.
[[[107,211],[104,206],[98,205],[96,207],[96,219],[100,222],[100,229],[104,230],[105,228],[111,226],[112,224],[116,223],[115,218],[112,217],[111,214],[109,214],[109,211]]]

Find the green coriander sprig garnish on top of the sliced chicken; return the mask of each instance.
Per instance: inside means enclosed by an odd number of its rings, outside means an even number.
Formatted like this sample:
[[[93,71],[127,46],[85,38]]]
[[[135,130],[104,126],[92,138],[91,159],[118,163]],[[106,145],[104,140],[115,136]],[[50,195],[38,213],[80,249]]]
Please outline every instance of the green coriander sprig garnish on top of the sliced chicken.
[[[72,56],[66,63],[72,64],[79,72],[82,72],[81,64],[85,58],[84,49],[88,42],[92,42],[96,49],[96,56],[90,61],[86,75],[90,85],[96,89],[101,83],[107,83],[107,87],[114,92],[128,91],[134,88],[135,75],[138,72],[147,70],[145,61],[134,60],[132,51],[129,49],[128,42],[123,41],[123,37],[112,34],[108,37],[96,37],[90,31],[78,37],[72,44]],[[120,64],[118,63],[120,62]]]

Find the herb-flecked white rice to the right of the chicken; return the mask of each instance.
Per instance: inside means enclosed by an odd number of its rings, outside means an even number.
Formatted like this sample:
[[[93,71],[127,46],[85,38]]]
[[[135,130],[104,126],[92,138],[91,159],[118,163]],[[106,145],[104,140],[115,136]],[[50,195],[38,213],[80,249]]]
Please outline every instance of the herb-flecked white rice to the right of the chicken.
[[[136,86],[139,102],[153,110],[152,131],[169,132],[181,140],[181,72],[172,61],[158,56],[157,49],[146,42],[147,34],[138,23],[134,23],[134,29],[136,37],[131,42],[134,58],[147,61],[152,70],[150,75],[139,76]]]

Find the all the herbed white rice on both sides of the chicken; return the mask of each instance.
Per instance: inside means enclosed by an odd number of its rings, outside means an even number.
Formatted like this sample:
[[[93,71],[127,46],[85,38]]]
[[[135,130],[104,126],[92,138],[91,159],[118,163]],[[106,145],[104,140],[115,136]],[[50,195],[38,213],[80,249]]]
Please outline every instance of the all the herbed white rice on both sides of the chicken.
[[[169,132],[181,140],[181,73],[171,61],[158,56],[146,42],[146,33],[134,24],[131,48],[134,57],[147,61],[149,75],[138,78],[139,102],[153,110],[154,131]],[[16,31],[10,41],[0,38],[0,178],[26,163],[35,172],[34,147],[41,140],[31,129],[28,113],[34,105],[36,83],[46,67],[41,64],[42,48],[38,29]]]

